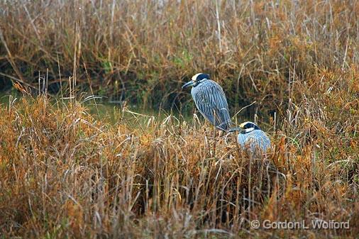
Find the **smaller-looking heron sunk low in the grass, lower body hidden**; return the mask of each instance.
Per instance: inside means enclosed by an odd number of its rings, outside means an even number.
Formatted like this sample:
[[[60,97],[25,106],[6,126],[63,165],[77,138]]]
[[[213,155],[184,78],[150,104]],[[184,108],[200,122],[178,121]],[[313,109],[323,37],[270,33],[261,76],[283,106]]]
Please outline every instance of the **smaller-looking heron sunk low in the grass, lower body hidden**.
[[[241,148],[250,152],[265,152],[270,148],[270,139],[255,123],[247,121],[240,125],[243,130],[238,133],[238,143]]]

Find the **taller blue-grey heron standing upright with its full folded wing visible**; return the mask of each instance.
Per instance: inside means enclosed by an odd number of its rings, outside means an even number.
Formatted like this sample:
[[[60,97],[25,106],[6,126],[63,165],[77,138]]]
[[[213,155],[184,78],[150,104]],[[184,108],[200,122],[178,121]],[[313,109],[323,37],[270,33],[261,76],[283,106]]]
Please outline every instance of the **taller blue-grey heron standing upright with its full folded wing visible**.
[[[222,87],[203,73],[195,74],[182,89],[189,86],[192,86],[192,98],[202,116],[216,128],[228,130],[231,127],[231,117]]]

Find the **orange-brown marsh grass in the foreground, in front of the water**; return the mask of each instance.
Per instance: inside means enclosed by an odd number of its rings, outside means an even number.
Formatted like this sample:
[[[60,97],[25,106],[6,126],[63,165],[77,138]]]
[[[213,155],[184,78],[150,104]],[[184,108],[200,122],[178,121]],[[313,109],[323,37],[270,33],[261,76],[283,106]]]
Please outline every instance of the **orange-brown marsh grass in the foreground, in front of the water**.
[[[236,135],[215,134],[197,117],[158,121],[123,108],[111,124],[77,101],[10,101],[0,108],[1,234],[355,238],[358,99],[328,91],[331,77],[324,73],[325,82],[313,82],[315,98],[304,92],[267,127],[273,146],[259,159],[238,149]],[[255,219],[349,221],[350,229],[250,228]]]

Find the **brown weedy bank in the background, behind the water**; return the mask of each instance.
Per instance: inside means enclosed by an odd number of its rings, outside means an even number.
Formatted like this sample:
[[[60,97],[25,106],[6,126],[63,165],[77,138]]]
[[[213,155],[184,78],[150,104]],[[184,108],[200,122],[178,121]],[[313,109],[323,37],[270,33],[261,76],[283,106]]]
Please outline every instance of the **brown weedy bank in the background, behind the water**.
[[[48,70],[53,93],[74,77],[94,94],[168,108],[189,99],[177,95],[184,81],[208,72],[233,112],[256,100],[261,113],[287,106],[290,79],[358,70],[354,0],[1,1],[0,9],[2,81],[15,77],[34,92]]]

